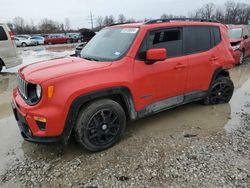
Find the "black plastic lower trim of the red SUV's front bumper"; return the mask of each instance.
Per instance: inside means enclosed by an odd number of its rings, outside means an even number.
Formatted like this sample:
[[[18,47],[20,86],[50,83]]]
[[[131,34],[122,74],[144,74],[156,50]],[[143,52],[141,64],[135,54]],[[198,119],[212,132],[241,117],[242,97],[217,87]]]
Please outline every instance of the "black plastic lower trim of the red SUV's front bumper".
[[[18,111],[16,105],[14,102],[11,103],[12,110],[15,116],[15,119],[17,121],[18,127],[21,131],[21,135],[24,138],[24,140],[33,142],[33,143],[42,143],[42,144],[48,144],[48,143],[54,143],[54,142],[60,142],[61,136],[57,137],[37,137],[32,134],[31,129],[29,128],[29,125],[25,119],[25,117]]]

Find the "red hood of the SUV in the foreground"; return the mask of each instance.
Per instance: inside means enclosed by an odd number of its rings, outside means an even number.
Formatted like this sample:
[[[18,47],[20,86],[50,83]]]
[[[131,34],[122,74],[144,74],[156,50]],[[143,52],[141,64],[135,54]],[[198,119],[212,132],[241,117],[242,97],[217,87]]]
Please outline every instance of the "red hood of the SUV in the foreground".
[[[19,74],[28,82],[40,84],[43,81],[79,72],[86,72],[110,66],[111,62],[88,61],[77,57],[64,57],[27,65]]]

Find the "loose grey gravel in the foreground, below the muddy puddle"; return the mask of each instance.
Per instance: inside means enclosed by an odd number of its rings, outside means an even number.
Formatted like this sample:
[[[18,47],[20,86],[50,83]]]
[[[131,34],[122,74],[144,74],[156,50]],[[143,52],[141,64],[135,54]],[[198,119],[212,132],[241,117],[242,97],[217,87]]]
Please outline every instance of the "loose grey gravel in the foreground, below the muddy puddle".
[[[49,158],[43,152],[17,158],[1,182],[22,187],[248,187],[250,114],[239,115],[242,125],[227,134],[193,134],[199,127],[179,136],[136,137],[128,132],[127,140],[115,147],[84,152],[73,160],[62,159],[64,149],[57,146]],[[40,149],[46,152],[46,147]]]

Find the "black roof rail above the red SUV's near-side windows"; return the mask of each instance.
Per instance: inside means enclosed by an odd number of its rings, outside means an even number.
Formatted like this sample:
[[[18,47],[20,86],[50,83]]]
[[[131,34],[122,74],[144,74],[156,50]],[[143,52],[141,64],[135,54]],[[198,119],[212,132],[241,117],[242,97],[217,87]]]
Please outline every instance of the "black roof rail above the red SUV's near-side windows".
[[[167,18],[167,19],[155,19],[145,22],[145,24],[163,23],[171,21],[195,21],[195,22],[215,22],[220,23],[217,20],[202,19],[202,18]]]

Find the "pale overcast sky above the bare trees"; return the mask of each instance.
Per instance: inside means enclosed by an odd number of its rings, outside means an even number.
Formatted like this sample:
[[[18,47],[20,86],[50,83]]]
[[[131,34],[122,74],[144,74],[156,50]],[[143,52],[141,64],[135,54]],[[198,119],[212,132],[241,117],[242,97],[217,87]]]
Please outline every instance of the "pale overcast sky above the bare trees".
[[[188,12],[213,2],[222,5],[227,0],[0,0],[0,22],[23,17],[38,24],[42,18],[64,22],[69,18],[74,29],[91,27],[90,12],[98,16],[124,14],[126,18],[143,20],[159,18],[163,13],[187,15]],[[250,0],[237,0],[245,2]]]

